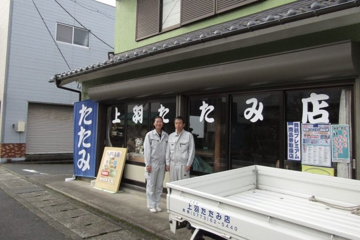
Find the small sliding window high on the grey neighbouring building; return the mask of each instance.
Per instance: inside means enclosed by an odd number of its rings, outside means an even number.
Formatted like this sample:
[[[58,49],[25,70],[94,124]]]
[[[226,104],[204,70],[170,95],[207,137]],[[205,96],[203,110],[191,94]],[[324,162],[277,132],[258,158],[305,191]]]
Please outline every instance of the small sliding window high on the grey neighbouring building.
[[[56,23],[56,41],[89,48],[90,32],[85,29]]]

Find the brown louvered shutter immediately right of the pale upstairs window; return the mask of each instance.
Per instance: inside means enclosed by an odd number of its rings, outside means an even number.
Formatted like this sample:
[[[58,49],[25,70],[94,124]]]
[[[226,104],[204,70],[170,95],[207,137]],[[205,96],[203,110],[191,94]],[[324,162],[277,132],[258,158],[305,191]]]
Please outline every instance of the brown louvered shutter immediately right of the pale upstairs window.
[[[181,24],[189,24],[196,20],[215,14],[215,0],[182,0]]]

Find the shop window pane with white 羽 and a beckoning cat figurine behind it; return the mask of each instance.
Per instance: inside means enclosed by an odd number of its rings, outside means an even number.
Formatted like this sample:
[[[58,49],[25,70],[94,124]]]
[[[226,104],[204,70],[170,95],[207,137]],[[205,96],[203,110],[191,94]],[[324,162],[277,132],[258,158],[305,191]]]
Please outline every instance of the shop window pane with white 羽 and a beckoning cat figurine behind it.
[[[126,146],[131,157],[144,158],[144,138],[148,129],[148,103],[127,105]],[[134,153],[141,155],[134,155]]]

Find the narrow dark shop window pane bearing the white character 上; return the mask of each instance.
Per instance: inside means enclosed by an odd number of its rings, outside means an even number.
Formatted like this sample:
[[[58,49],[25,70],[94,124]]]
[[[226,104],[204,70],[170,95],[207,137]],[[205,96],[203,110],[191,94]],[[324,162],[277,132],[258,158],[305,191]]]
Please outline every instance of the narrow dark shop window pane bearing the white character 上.
[[[116,105],[107,109],[106,146],[124,147],[125,105]]]

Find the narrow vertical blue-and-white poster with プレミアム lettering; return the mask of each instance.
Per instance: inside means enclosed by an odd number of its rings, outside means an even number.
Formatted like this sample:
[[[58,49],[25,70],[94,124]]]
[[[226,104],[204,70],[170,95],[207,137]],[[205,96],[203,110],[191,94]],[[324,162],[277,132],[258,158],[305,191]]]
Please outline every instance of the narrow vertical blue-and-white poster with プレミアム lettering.
[[[300,122],[288,121],[288,160],[301,160]]]

